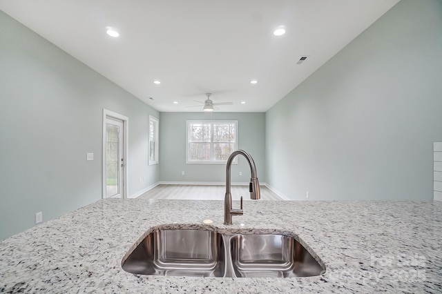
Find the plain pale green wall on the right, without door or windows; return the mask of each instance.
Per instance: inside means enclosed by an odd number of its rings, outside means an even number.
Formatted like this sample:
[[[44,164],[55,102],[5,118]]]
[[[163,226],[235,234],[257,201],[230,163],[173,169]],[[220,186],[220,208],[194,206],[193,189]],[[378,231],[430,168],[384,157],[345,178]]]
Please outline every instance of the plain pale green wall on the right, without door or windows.
[[[442,1],[402,0],[267,111],[267,182],[291,199],[431,200],[441,81]]]

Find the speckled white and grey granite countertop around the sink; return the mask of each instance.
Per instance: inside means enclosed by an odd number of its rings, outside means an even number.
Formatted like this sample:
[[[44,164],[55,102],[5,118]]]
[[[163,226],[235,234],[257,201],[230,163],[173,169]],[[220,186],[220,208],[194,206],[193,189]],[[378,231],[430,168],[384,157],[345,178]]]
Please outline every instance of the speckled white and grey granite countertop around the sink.
[[[194,226],[204,219],[213,219],[215,230],[292,232],[327,271],[285,279],[123,271],[124,255],[155,226]],[[0,292],[442,291],[442,202],[246,201],[233,226],[222,222],[222,201],[99,200],[0,242]]]

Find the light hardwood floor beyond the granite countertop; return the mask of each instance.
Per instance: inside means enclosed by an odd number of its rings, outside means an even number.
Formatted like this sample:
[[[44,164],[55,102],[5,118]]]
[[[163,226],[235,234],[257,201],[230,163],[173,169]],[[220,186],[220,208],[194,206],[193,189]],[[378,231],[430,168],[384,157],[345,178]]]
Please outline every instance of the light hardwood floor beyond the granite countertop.
[[[260,186],[262,200],[282,200],[266,186]],[[224,200],[226,186],[224,185],[164,185],[160,184],[139,196],[142,199],[192,199],[192,200]],[[249,186],[231,186],[233,200],[240,196],[250,200]]]

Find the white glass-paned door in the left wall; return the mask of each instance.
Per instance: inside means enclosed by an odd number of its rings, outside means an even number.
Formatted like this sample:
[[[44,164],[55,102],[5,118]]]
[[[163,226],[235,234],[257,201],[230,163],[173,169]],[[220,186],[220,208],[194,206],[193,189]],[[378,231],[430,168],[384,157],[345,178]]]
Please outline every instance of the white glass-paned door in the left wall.
[[[120,119],[106,117],[105,148],[106,164],[104,164],[106,175],[104,196],[122,198],[124,193],[124,123]]]

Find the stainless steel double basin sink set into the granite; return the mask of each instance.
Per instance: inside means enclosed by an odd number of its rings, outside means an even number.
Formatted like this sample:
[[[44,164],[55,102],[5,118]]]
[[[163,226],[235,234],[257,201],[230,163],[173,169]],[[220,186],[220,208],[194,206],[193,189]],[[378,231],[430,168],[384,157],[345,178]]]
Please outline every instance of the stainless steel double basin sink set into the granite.
[[[152,231],[122,260],[129,273],[185,277],[310,277],[321,264],[290,235],[193,228]]]

